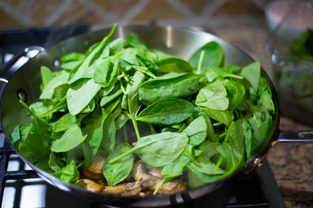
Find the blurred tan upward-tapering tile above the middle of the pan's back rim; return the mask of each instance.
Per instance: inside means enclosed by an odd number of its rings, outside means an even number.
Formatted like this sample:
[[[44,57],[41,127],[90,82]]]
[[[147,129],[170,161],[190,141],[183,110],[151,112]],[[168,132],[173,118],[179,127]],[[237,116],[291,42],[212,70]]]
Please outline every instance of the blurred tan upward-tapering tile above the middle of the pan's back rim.
[[[151,0],[131,21],[156,19],[185,19],[185,17],[165,0]]]

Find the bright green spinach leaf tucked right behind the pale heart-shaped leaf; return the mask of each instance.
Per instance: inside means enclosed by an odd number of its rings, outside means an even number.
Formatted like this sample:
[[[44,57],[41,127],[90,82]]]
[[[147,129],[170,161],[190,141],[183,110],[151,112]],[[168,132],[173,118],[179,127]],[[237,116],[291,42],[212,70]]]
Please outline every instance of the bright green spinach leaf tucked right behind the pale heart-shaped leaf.
[[[221,82],[226,89],[227,97],[229,99],[228,109],[235,109],[244,97],[244,85],[229,79],[223,79]]]

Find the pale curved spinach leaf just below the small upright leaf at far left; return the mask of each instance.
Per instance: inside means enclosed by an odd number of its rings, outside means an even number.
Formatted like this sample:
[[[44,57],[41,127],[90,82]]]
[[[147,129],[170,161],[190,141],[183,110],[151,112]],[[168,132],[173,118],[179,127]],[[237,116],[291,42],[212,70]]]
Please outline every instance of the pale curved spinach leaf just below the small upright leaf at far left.
[[[69,73],[62,73],[61,75],[54,77],[50,82],[45,85],[44,90],[39,96],[39,99],[48,99],[51,100],[53,93],[54,93],[54,88],[66,84],[67,80],[69,78]]]

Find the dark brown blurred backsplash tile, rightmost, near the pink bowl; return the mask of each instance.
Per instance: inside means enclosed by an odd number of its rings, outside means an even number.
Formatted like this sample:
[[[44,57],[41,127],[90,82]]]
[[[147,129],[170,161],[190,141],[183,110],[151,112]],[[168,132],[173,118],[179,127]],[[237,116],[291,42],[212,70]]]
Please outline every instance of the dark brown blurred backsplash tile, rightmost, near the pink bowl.
[[[250,0],[229,0],[221,5],[212,16],[236,16],[262,13],[263,11]]]

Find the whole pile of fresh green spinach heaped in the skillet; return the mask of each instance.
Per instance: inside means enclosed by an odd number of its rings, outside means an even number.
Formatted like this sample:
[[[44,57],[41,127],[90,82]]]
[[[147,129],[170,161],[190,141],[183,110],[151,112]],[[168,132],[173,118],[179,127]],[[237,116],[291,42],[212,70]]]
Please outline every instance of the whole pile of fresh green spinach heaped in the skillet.
[[[11,134],[20,153],[66,182],[96,155],[108,155],[109,186],[129,175],[133,153],[162,167],[162,183],[189,171],[191,188],[246,164],[275,112],[259,63],[223,67],[216,42],[187,62],[148,48],[135,33],[110,42],[115,29],[85,54],[64,55],[62,71],[41,67],[41,101],[20,101],[33,122]],[[136,134],[126,132],[126,122]],[[125,143],[131,136],[133,146]]]

